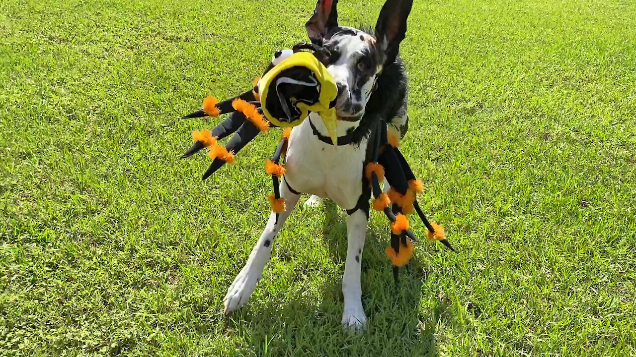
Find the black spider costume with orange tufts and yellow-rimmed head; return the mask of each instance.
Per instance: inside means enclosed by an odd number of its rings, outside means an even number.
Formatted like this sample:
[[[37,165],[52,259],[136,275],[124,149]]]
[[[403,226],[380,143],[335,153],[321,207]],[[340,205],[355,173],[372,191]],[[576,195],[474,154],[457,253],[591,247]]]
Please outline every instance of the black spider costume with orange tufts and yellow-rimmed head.
[[[284,198],[280,197],[279,179],[286,170],[284,156],[293,126],[307,118],[309,112],[316,112],[329,132],[329,137],[319,135],[319,138],[336,146],[348,144],[346,140],[338,140],[336,135],[338,89],[326,69],[327,58],[328,54],[319,44],[298,44],[293,50],[277,51],[263,76],[254,81],[252,90],[223,102],[214,97],[205,98],[201,110],[183,118],[231,115],[212,130],[193,131],[194,144],[182,158],[207,147],[213,161],[203,175],[205,180],[225,163],[232,164],[234,155],[258,133],[267,133],[272,126],[284,128],[272,159],[265,163],[266,172],[272,175],[274,191],[269,196],[270,206],[278,221],[279,213],[286,209]],[[219,144],[219,140],[232,133],[233,137],[225,146]],[[394,266],[397,282],[399,267],[407,264],[413,255],[411,241],[417,241],[406,215],[417,212],[427,227],[427,238],[441,241],[450,250],[453,248],[445,238],[443,227],[429,223],[424,217],[416,199],[424,185],[416,179],[397,148],[396,140],[390,132],[388,134],[387,123],[377,121],[377,127],[371,131],[369,138],[371,159],[364,166],[363,180],[371,186],[373,209],[384,212],[391,221],[391,245],[387,246],[386,253]],[[388,192],[382,192],[380,188],[380,181],[385,177],[391,184]]]

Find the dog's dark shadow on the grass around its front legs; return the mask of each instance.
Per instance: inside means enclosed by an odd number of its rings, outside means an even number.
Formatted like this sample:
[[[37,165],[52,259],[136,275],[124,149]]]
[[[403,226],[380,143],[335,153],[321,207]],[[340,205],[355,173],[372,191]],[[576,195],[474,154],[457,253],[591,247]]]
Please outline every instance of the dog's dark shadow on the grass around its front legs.
[[[345,219],[338,215],[337,206],[330,200],[318,209],[325,213],[323,232],[330,258],[344,262]],[[318,293],[319,303],[307,297],[301,287],[291,299],[288,295],[280,304],[268,299],[266,303],[242,309],[238,316],[227,321],[226,327],[250,335],[249,342],[245,341],[249,347],[245,348],[258,356],[436,355],[436,325],[439,320],[450,318],[450,301],[438,301],[427,307],[420,304],[427,273],[417,256],[401,269],[399,286],[394,285],[392,267],[384,253],[387,239],[378,240],[387,234],[386,226],[370,221],[361,261],[362,300],[368,318],[368,328],[363,333],[348,333],[340,325],[342,269],[338,276],[325,277]]]

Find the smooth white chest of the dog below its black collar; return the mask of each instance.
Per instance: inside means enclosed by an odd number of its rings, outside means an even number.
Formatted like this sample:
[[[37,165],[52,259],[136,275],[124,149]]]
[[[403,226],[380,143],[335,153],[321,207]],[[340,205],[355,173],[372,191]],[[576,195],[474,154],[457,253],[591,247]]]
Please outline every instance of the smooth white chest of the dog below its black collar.
[[[316,137],[305,120],[289,137],[285,177],[299,192],[330,198],[351,209],[362,193],[366,140],[335,147]]]

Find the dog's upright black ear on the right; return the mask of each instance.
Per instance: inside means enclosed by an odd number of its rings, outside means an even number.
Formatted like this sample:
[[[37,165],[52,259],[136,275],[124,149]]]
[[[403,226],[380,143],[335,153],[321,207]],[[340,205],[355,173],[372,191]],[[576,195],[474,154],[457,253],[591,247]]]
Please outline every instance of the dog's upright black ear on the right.
[[[399,44],[406,36],[406,18],[413,0],[387,0],[375,25],[379,63],[391,64],[396,59]]]

